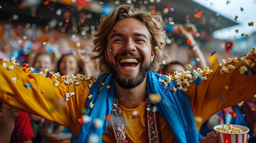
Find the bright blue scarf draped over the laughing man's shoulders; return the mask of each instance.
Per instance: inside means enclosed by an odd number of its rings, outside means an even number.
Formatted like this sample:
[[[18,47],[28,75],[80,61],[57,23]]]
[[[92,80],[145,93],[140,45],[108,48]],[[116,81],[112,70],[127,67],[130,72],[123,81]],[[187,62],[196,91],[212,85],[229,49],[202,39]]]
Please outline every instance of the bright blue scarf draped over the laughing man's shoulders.
[[[174,94],[172,90],[168,90],[168,88],[159,81],[159,78],[165,80],[165,76],[160,76],[152,70],[148,71],[148,95],[150,95],[150,93],[158,93],[162,97],[162,100],[154,105],[157,107],[159,114],[168,122],[173,130],[175,142],[198,143],[198,132],[189,98],[185,92],[180,90],[177,90]],[[177,88],[177,84],[175,81],[171,81],[168,87]],[[92,85],[89,95],[92,95],[92,98],[87,99],[85,108],[87,109],[86,115],[90,116],[92,121],[82,125],[77,143],[87,143],[90,136],[94,134],[99,136],[99,143],[102,143],[102,134],[107,131],[108,124],[108,121],[105,121],[105,116],[110,115],[112,101],[115,96],[115,84],[112,75],[101,75]],[[93,108],[90,108],[90,103],[94,103]],[[95,118],[103,121],[101,128],[94,128],[93,120]]]

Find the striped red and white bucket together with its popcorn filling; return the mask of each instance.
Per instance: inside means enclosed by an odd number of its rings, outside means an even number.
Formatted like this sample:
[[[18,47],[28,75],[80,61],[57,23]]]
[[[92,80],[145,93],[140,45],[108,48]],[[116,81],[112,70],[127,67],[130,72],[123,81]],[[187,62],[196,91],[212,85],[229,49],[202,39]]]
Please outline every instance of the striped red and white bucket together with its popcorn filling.
[[[249,128],[243,125],[216,125],[214,130],[218,134],[219,143],[247,143]]]

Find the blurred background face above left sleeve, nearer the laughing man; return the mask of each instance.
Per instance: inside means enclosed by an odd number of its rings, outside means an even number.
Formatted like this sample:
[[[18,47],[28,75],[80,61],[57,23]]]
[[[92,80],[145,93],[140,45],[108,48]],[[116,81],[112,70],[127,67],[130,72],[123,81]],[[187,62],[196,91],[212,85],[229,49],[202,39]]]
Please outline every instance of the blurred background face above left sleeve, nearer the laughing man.
[[[60,60],[58,66],[61,75],[76,75],[79,73],[79,66],[74,55],[65,55]]]

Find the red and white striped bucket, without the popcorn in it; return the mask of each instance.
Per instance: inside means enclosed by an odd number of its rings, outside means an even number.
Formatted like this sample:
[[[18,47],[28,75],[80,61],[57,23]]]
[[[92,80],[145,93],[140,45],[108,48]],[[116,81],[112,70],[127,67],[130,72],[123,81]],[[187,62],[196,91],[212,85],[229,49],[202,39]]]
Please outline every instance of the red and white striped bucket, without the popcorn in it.
[[[227,124],[224,124],[226,127]],[[238,133],[228,133],[228,132],[221,132],[216,130],[216,128],[222,128],[222,125],[216,125],[214,127],[215,132],[218,134],[219,143],[247,143],[247,136],[249,132],[249,128],[243,125],[234,125],[233,127],[240,128],[243,132]]]

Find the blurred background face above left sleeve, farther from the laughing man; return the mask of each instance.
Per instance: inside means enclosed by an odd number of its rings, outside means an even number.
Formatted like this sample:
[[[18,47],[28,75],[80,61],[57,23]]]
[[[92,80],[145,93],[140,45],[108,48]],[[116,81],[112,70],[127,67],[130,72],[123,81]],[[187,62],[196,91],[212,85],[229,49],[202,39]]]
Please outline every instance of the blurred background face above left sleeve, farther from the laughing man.
[[[33,68],[36,68],[38,71],[44,71],[45,68],[48,68],[49,71],[54,71],[54,63],[50,55],[38,55],[34,59]]]

